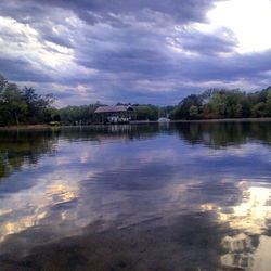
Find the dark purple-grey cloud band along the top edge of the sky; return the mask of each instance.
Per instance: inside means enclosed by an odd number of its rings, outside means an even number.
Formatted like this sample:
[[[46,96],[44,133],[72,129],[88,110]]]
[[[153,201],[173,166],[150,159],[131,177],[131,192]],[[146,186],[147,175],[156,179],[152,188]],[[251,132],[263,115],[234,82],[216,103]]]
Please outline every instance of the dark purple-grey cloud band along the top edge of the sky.
[[[36,1],[41,3],[43,1]],[[133,14],[140,20],[149,17],[144,11],[150,10],[154,13],[162,13],[165,16],[178,22],[203,22],[206,11],[209,10],[214,1],[209,0],[48,0],[46,4],[70,9],[88,23],[108,21],[117,22],[115,15]],[[119,21],[120,22],[120,21]]]

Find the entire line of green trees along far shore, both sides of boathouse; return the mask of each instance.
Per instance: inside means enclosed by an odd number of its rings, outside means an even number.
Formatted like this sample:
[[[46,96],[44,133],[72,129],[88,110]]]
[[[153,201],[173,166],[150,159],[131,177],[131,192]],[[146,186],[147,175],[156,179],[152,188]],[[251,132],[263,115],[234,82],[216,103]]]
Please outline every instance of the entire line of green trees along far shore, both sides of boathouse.
[[[0,75],[0,126],[36,125],[57,121],[62,125],[96,124],[95,109],[100,102],[53,107],[52,95],[37,94],[34,88],[18,88]],[[271,117],[271,87],[248,93],[236,89],[210,89],[201,94],[185,96],[176,106],[152,104],[122,104],[134,109],[134,120],[223,119]]]

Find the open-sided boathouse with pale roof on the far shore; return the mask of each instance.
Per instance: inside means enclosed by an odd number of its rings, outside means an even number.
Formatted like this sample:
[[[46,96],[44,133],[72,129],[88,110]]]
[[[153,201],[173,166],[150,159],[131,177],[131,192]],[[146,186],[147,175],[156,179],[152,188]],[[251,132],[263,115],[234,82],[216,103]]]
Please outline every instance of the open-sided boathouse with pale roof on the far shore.
[[[128,124],[134,109],[130,105],[100,106],[94,113],[102,124]]]

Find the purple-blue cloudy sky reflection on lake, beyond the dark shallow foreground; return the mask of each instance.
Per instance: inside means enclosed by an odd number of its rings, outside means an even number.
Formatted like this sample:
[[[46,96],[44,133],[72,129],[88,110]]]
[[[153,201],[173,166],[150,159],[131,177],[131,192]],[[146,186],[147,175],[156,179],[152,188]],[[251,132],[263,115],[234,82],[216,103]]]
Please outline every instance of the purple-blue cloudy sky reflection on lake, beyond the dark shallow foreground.
[[[25,166],[0,182],[1,251],[21,247],[25,253],[81,234],[98,221],[98,231],[153,219],[170,224],[171,218],[202,211],[215,215],[210,224],[229,227],[220,236],[222,266],[257,270],[261,264],[264,270],[271,220],[269,146],[240,138],[237,145],[227,145],[223,134],[217,147],[212,131],[217,137],[220,128],[211,126],[194,127],[197,141],[189,142],[186,128],[61,131],[54,155],[43,154],[35,167]],[[248,131],[244,139],[258,137]]]

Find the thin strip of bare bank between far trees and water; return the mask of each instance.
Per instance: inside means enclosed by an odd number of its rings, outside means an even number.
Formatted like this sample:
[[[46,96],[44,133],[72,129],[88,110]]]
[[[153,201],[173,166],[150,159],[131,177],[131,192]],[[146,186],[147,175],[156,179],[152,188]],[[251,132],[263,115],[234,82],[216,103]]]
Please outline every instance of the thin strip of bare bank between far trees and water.
[[[134,120],[128,125],[147,125],[147,124],[191,124],[191,122],[269,122],[271,118],[220,118],[220,119],[179,119],[170,120],[169,122],[159,122],[158,120]],[[107,126],[107,125],[82,125],[82,126],[59,126],[57,128],[68,127],[95,127],[95,126]],[[0,127],[0,131],[3,130],[41,130],[55,128],[50,125],[21,125],[21,126],[3,126]]]

